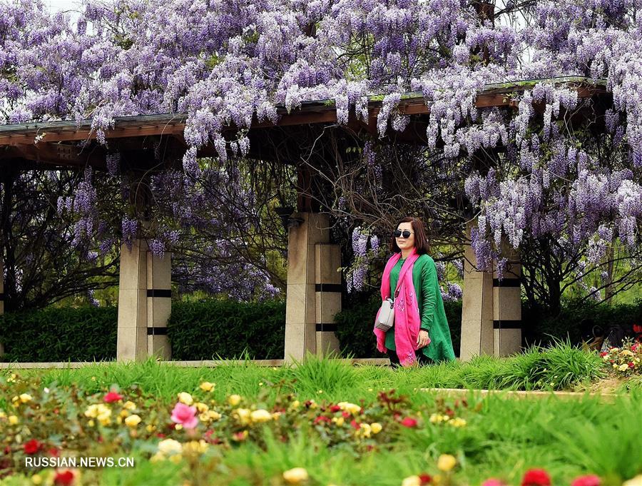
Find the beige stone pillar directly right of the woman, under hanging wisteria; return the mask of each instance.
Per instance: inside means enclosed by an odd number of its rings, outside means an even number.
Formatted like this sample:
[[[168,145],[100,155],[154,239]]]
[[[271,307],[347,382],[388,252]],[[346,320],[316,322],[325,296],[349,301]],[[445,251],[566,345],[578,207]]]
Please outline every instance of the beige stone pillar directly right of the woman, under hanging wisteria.
[[[470,245],[464,248],[464,256],[460,359],[467,361],[476,355],[518,353],[521,350],[519,260],[515,254],[510,255],[500,282],[496,272],[481,272],[475,268],[477,259]]]

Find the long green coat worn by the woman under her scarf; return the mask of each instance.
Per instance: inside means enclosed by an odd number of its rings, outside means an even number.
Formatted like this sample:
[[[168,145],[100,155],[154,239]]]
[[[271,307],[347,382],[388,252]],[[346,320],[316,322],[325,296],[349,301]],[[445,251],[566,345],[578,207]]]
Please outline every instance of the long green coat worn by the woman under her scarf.
[[[399,259],[397,265],[394,265],[390,272],[390,295],[394,295],[399,280],[399,272],[404,264],[405,258]],[[444,301],[442,292],[439,289],[437,280],[437,268],[434,260],[429,255],[421,255],[414,261],[412,267],[412,283],[414,292],[417,294],[417,303],[419,304],[419,315],[422,316],[421,328],[428,331],[430,344],[420,350],[433,361],[454,360],[454,350],[452,349],[452,340],[450,339],[450,329],[446,312],[444,311]],[[386,348],[396,350],[394,345],[393,326],[386,333]]]

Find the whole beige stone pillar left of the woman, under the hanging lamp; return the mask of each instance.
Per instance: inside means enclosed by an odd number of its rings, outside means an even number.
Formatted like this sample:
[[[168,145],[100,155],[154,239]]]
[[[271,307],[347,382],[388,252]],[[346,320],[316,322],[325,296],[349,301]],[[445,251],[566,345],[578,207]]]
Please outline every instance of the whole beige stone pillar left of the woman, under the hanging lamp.
[[[340,253],[330,244],[328,215],[305,212],[292,218],[301,222],[290,228],[287,243],[286,361],[337,350],[332,316],[341,310]]]

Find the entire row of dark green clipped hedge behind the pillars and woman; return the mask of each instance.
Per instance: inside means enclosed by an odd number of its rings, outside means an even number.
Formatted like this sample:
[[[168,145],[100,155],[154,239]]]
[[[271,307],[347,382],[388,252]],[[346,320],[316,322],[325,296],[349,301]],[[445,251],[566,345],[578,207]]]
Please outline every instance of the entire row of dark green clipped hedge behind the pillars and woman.
[[[444,303],[455,353],[459,353],[462,303]],[[343,355],[382,356],[375,348],[372,325],[379,302],[355,305],[336,315]],[[581,339],[581,323],[642,324],[642,299],[633,304],[595,306],[569,304],[556,318],[524,306],[524,341],[546,345],[554,338]],[[0,316],[4,361],[92,361],[116,358],[118,310],[111,308],[48,308]],[[175,360],[233,358],[247,351],[255,359],[280,359],[284,354],[285,303],[233,303],[208,300],[173,303],[168,336]]]

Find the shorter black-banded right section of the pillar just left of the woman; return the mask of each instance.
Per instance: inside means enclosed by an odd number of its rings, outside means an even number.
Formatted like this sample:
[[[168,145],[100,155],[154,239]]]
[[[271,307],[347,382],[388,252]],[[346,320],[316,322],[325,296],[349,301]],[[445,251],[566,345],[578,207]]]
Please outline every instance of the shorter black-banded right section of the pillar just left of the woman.
[[[339,353],[335,314],[341,310],[341,248],[330,243],[315,245],[315,315],[317,355]]]

